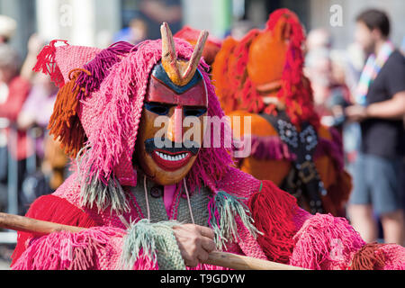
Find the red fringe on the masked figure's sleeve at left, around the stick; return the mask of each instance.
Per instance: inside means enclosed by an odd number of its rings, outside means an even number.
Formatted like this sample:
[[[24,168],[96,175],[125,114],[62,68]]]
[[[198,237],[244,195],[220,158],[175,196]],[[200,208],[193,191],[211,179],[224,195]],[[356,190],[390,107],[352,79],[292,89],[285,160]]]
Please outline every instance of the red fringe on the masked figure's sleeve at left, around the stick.
[[[77,208],[75,205],[67,202],[66,199],[54,195],[40,196],[31,204],[26,217],[37,220],[46,220],[64,225],[90,228],[97,226],[96,222],[88,214]],[[27,241],[34,238],[35,235],[28,232],[18,232],[17,246],[12,256],[11,266],[22,256],[28,246]]]

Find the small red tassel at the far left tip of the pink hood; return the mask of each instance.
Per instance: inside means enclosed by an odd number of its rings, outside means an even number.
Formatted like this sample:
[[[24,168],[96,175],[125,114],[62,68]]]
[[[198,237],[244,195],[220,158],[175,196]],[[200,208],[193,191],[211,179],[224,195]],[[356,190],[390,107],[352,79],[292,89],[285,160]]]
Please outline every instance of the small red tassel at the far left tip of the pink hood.
[[[55,60],[56,47],[55,43],[62,41],[67,44],[67,40],[52,40],[49,45],[46,45],[37,56],[37,64],[33,67],[33,71],[42,72],[50,76],[50,80],[59,88],[65,84],[65,79],[60,72],[60,69]],[[68,45],[68,44],[67,44]]]

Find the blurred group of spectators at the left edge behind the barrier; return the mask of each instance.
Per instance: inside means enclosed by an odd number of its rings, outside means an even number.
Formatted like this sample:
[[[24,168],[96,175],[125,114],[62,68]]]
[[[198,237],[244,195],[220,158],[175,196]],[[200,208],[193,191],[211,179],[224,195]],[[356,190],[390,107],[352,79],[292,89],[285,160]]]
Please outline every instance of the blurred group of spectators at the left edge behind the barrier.
[[[9,44],[15,28],[13,19],[0,16],[0,211],[7,211],[13,186],[15,212],[24,214],[33,200],[63,182],[67,157],[47,133],[58,89],[49,76],[32,72],[45,42],[32,35],[21,59]]]

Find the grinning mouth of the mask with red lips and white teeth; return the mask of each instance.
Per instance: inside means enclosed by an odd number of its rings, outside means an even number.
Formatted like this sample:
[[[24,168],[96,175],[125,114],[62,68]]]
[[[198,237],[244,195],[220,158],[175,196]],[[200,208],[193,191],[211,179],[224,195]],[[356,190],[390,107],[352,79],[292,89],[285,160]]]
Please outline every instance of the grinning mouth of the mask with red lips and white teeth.
[[[184,143],[174,143],[167,139],[145,140],[145,150],[166,171],[175,171],[185,166],[191,157],[197,155],[198,143],[187,140]]]

